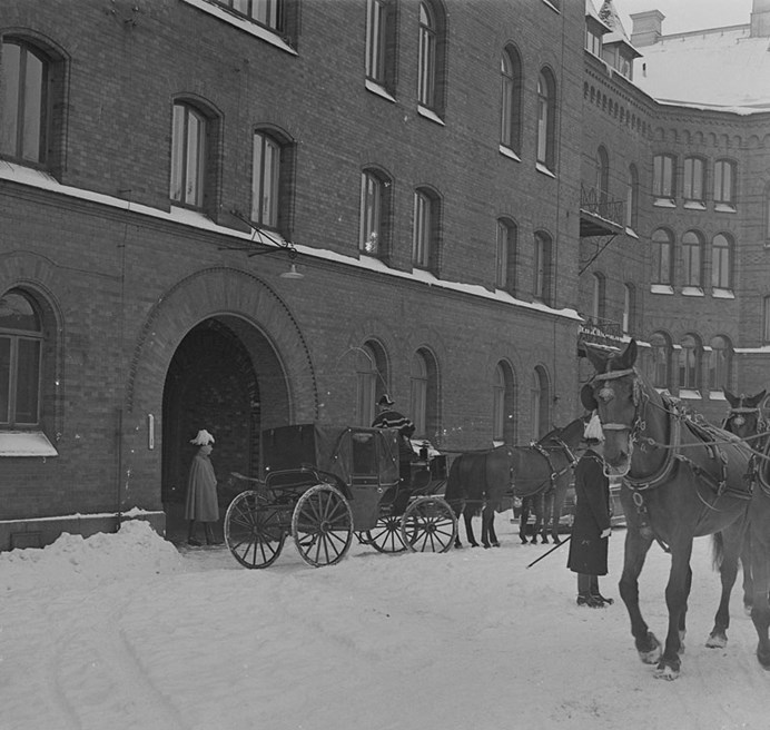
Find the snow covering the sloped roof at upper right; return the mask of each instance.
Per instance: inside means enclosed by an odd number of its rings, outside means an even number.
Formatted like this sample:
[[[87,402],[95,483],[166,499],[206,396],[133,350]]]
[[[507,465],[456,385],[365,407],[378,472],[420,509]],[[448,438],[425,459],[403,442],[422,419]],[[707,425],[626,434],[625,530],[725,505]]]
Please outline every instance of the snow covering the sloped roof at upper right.
[[[663,103],[770,111],[770,39],[749,31],[747,24],[663,36],[644,47],[634,83]]]

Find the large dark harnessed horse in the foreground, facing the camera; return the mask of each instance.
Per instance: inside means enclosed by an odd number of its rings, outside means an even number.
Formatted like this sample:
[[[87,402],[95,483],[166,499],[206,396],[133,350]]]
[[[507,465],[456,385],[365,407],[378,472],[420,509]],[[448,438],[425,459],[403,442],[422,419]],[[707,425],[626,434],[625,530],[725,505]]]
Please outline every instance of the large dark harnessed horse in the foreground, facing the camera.
[[[621,502],[628,530],[619,588],[640,658],[657,664],[655,677],[679,677],[692,582],[693,537],[722,533],[724,560],[720,572],[724,592],[736,581],[749,515],[752,522],[757,521],[757,530],[751,530],[752,553],[754,559],[762,559],[756,560],[760,565],[753,571],[752,618],[760,649],[768,645],[768,553],[764,544],[760,546],[753,539],[770,537],[759,531],[762,523],[770,524],[770,500],[766,500],[764,506],[752,495],[751,450],[734,435],[688,415],[658,393],[634,367],[635,341],[622,354],[590,348],[588,355],[596,374],[583,386],[581,399],[586,408],[596,410],[601,418],[608,471],[623,476]],[[669,629],[662,653],[639,608],[639,575],[653,540],[671,553],[665,588]],[[762,586],[764,602],[760,606],[757,595]],[[728,623],[727,606],[720,604],[714,631],[725,630]],[[764,664],[760,650],[758,655]]]

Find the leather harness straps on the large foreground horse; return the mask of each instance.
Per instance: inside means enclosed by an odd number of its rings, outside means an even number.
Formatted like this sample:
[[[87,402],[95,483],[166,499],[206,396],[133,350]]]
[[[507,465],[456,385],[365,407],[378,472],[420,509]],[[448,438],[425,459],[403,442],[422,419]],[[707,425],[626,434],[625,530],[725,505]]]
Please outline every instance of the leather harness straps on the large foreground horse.
[[[609,365],[609,364],[608,364]],[[620,371],[609,371],[605,373],[598,373],[594,376],[595,381],[611,381],[620,377],[624,377],[626,375],[633,375],[633,391],[632,391],[632,399],[633,404],[636,411],[636,416],[634,418],[633,424],[631,427],[629,427],[625,424],[620,424],[620,423],[608,423],[608,424],[602,424],[602,428],[605,431],[622,431],[622,430],[629,430],[630,431],[630,448],[633,448],[633,444],[638,443],[640,445],[640,448],[642,451],[645,451],[646,446],[659,446],[665,450],[665,460],[663,461],[663,464],[661,467],[658,470],[658,472],[651,476],[643,477],[643,479],[636,479],[632,477],[630,474],[625,474],[623,476],[623,482],[625,485],[629,487],[631,491],[631,495],[633,499],[634,506],[636,507],[636,513],[640,519],[640,531],[644,533],[645,531],[648,533],[652,533],[654,536],[655,541],[661,545],[661,548],[665,552],[670,552],[668,545],[663,542],[663,540],[657,534],[654,527],[650,523],[650,514],[648,506],[644,501],[644,493],[649,492],[650,490],[655,489],[657,486],[660,486],[661,484],[664,484],[665,482],[669,481],[671,475],[673,474],[674,470],[677,468],[678,465],[684,464],[690,467],[692,473],[702,482],[705,482],[710,487],[711,491],[713,492],[715,499],[714,502],[721,497],[724,494],[729,494],[730,496],[734,496],[738,499],[746,499],[749,500],[751,499],[752,491],[753,491],[753,483],[757,477],[757,467],[754,464],[753,457],[749,460],[749,465],[748,470],[746,473],[740,474],[740,475],[734,475],[733,476],[739,476],[739,481],[744,484],[744,489],[736,489],[730,485],[730,462],[728,458],[728,455],[725,453],[725,450],[722,448],[722,446],[725,445],[731,445],[734,443],[740,442],[741,440],[738,438],[738,436],[734,436],[730,434],[731,441],[724,441],[724,440],[717,440],[715,436],[719,436],[718,431],[714,428],[714,426],[711,426],[710,424],[705,422],[699,422],[695,421],[691,415],[689,415],[687,412],[679,408],[677,404],[671,401],[670,398],[667,398],[664,395],[661,397],[663,398],[664,403],[664,412],[669,417],[669,432],[670,432],[670,444],[659,444],[657,443],[653,438],[646,437],[643,438],[641,436],[641,432],[645,430],[646,424],[644,421],[644,410],[648,405],[651,404],[649,396],[643,392],[642,386],[641,386],[641,381],[639,377],[639,373],[634,367],[626,368],[626,369],[620,369]],[[604,395],[602,395],[604,394]],[[609,385],[603,386],[600,392],[599,392],[599,398],[609,401],[614,394],[612,392],[612,388],[609,387]],[[682,444],[682,424],[685,425],[688,428],[689,433],[695,437],[697,443],[694,444],[685,444],[687,446],[700,446],[707,454],[710,460],[709,466],[703,466],[695,462],[693,458],[690,458],[685,456],[681,450],[683,448]],[[729,432],[728,432],[729,433]],[[629,462],[630,462],[630,455],[629,455]],[[606,468],[605,468],[606,473]],[[700,494],[699,494],[700,497]],[[701,499],[703,504],[709,507],[710,510],[715,510],[713,506],[713,503],[710,504],[705,502],[704,500]]]

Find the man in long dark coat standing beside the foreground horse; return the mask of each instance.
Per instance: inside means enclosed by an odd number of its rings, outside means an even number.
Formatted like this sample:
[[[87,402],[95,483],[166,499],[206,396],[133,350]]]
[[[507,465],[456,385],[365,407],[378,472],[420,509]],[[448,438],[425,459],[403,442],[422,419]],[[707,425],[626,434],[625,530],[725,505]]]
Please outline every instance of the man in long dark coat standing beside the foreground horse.
[[[604,434],[594,413],[583,440],[588,450],[575,467],[575,519],[566,566],[578,573],[578,605],[603,609],[612,603],[599,592],[599,575],[608,573],[610,480],[604,473]]]

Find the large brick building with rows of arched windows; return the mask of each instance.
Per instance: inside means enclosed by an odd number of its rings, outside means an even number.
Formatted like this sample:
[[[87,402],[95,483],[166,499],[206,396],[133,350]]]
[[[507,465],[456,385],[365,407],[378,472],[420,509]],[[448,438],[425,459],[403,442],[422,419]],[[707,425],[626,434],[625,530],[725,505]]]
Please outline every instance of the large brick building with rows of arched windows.
[[[767,177],[767,117],[657,101],[591,3],[69,6],[0,11],[0,550],[171,532],[203,427],[224,504],[261,430],[384,392],[438,448],[527,443],[581,413],[596,334],[670,377],[720,335],[763,384],[767,195],[720,227],[651,190],[698,144]],[[651,236],[701,213],[734,279],[661,294]]]

